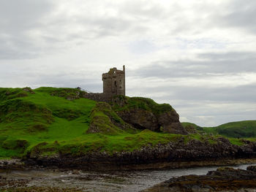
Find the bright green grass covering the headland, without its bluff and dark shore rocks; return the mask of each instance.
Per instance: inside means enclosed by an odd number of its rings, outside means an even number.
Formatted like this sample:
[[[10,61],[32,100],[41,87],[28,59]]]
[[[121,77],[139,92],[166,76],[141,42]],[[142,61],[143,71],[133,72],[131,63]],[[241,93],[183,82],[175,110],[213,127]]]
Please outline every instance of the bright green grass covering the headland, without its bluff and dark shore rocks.
[[[109,104],[80,98],[83,93],[74,88],[0,88],[0,158],[132,151],[181,137],[139,131]],[[154,105],[156,112],[171,108],[141,98],[129,104]]]

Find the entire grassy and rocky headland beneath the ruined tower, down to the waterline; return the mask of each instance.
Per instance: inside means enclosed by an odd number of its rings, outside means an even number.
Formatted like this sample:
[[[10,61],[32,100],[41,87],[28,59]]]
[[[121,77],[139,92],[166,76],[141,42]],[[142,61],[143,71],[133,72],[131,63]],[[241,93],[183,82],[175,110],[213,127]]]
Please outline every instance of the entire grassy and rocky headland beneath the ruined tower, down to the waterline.
[[[0,88],[0,158],[43,166],[129,169],[132,164],[143,169],[195,161],[223,164],[213,160],[255,154],[255,142],[213,134],[227,126],[182,126],[170,104],[87,96],[78,88]]]

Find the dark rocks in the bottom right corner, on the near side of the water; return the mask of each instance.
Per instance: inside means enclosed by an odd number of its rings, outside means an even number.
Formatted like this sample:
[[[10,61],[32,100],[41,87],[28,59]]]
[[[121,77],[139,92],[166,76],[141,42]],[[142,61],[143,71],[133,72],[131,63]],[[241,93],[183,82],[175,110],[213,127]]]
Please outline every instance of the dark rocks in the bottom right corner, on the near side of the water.
[[[255,169],[255,167],[253,168]],[[256,191],[256,172],[223,167],[206,175],[187,175],[171,178],[144,192],[191,191]]]

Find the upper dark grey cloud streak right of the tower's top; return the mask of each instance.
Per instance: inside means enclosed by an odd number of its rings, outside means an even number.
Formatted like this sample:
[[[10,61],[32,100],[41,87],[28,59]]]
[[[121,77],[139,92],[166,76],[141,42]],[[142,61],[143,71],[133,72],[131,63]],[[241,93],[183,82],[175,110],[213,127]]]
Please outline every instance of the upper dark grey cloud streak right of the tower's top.
[[[202,53],[195,60],[154,61],[142,69],[130,71],[140,77],[208,77],[219,74],[256,72],[256,53]]]

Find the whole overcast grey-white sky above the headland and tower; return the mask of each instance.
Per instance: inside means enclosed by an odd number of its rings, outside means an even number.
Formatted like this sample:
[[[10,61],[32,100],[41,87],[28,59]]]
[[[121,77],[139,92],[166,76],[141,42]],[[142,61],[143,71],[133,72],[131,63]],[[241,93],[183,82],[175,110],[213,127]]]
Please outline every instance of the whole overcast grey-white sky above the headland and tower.
[[[126,65],[128,96],[217,126],[256,115],[254,0],[0,0],[0,87],[80,86]]]

